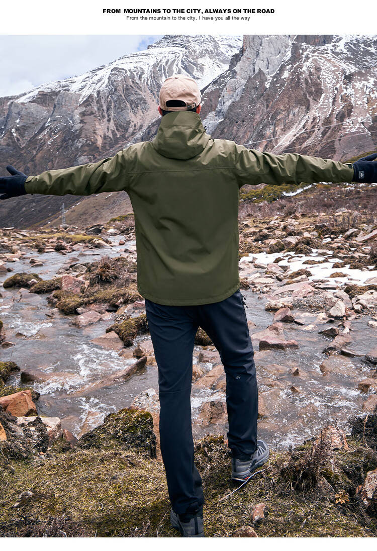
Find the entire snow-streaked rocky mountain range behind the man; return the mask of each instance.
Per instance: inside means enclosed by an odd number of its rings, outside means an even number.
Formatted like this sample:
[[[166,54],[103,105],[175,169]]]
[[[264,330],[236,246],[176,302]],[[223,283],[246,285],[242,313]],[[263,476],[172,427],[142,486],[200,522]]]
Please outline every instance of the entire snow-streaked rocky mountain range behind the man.
[[[0,169],[11,162],[39,173],[152,138],[159,85],[176,72],[200,83],[203,122],[214,138],[342,161],[377,149],[377,36],[165,36],[79,77],[0,98]],[[76,225],[131,210],[123,193],[69,208],[77,202],[64,198],[67,222]],[[2,205],[0,225],[61,220],[61,198],[22,204],[21,211],[17,199]]]

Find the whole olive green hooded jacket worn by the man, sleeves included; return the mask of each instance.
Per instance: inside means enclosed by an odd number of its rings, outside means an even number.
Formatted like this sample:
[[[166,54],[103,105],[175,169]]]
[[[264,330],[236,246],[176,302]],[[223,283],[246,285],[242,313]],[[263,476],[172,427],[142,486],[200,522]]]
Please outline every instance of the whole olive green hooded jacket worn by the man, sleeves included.
[[[159,304],[193,305],[224,300],[239,288],[241,186],[352,178],[352,165],[212,139],[196,113],[179,111],[163,117],[152,142],[99,163],[30,176],[25,190],[126,191],[135,217],[139,293]]]

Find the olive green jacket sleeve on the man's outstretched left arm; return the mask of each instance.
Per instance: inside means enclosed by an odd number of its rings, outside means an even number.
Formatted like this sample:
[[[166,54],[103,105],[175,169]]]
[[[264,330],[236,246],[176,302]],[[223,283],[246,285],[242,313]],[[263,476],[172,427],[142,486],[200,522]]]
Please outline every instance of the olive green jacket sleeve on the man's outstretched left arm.
[[[29,176],[25,182],[25,191],[42,195],[91,195],[127,191],[129,173],[130,159],[125,149],[99,163],[47,170],[39,176]]]

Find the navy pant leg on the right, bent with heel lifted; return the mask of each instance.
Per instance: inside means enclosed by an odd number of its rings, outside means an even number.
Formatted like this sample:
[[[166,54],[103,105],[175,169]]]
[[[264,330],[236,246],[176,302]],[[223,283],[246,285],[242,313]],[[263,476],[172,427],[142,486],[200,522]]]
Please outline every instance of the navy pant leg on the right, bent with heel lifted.
[[[214,304],[197,306],[199,325],[211,337],[227,379],[228,443],[233,456],[256,450],[258,388],[254,350],[240,291]]]

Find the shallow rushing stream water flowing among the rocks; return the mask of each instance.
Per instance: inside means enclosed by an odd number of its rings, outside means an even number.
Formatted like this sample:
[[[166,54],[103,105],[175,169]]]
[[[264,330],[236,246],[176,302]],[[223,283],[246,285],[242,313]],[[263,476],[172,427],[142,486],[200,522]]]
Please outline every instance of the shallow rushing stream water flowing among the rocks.
[[[34,272],[44,279],[56,274],[62,266],[69,266],[73,258],[80,262],[99,260],[101,256],[125,254],[124,246],[104,250],[89,250],[67,253],[57,252],[36,255],[28,251],[23,260],[8,264],[13,273]],[[126,247],[133,247],[128,241]],[[31,257],[44,261],[44,266],[34,268]],[[77,261],[77,260],[76,260]],[[2,276],[0,284],[12,273]],[[256,327],[251,332],[261,331],[271,325],[273,315],[265,311],[263,295],[242,291],[246,298],[247,319]],[[135,359],[126,359],[118,352],[94,344],[92,339],[105,333],[111,320],[102,320],[83,329],[72,325],[76,316],[63,315],[47,304],[47,295],[29,293],[26,289],[1,289],[0,319],[4,323],[7,341],[13,347],[0,349],[2,361],[12,360],[21,370],[39,369],[51,377],[45,383],[31,383],[41,393],[37,410],[44,417],[60,417],[64,429],[75,435],[99,425],[106,414],[131,405],[133,398],[148,388],[158,389],[156,365],[148,365],[131,379],[104,386],[98,390],[82,391],[90,383],[104,379],[107,375],[125,369]],[[115,316],[115,314],[114,314]],[[377,345],[377,329],[369,327],[369,318],[352,321],[352,349],[366,354]],[[328,324],[319,322],[316,314],[305,313],[305,325],[285,323],[285,338],[295,339],[297,350],[267,350],[258,352],[256,344],[256,366],[258,385],[266,405],[267,417],[258,426],[262,436],[271,444],[287,447],[298,444],[318,433],[330,423],[337,422],[347,431],[347,422],[353,414],[360,413],[367,394],[360,393],[358,382],[370,376],[371,366],[361,358],[349,358],[349,366],[342,374],[332,372],[322,375],[320,364],[326,358],[324,348],[331,342],[319,334]],[[141,336],[138,343],[149,341]],[[193,363],[201,347],[195,347]],[[212,369],[211,364],[202,364],[204,371]],[[299,368],[299,375],[293,375]],[[20,385],[20,375],[12,375],[9,384]],[[30,386],[30,385],[27,385]],[[292,388],[295,387],[295,388]],[[192,411],[197,418],[203,402],[224,400],[224,393],[209,389],[193,388]],[[208,431],[226,431],[226,425],[194,425],[195,436]]]

